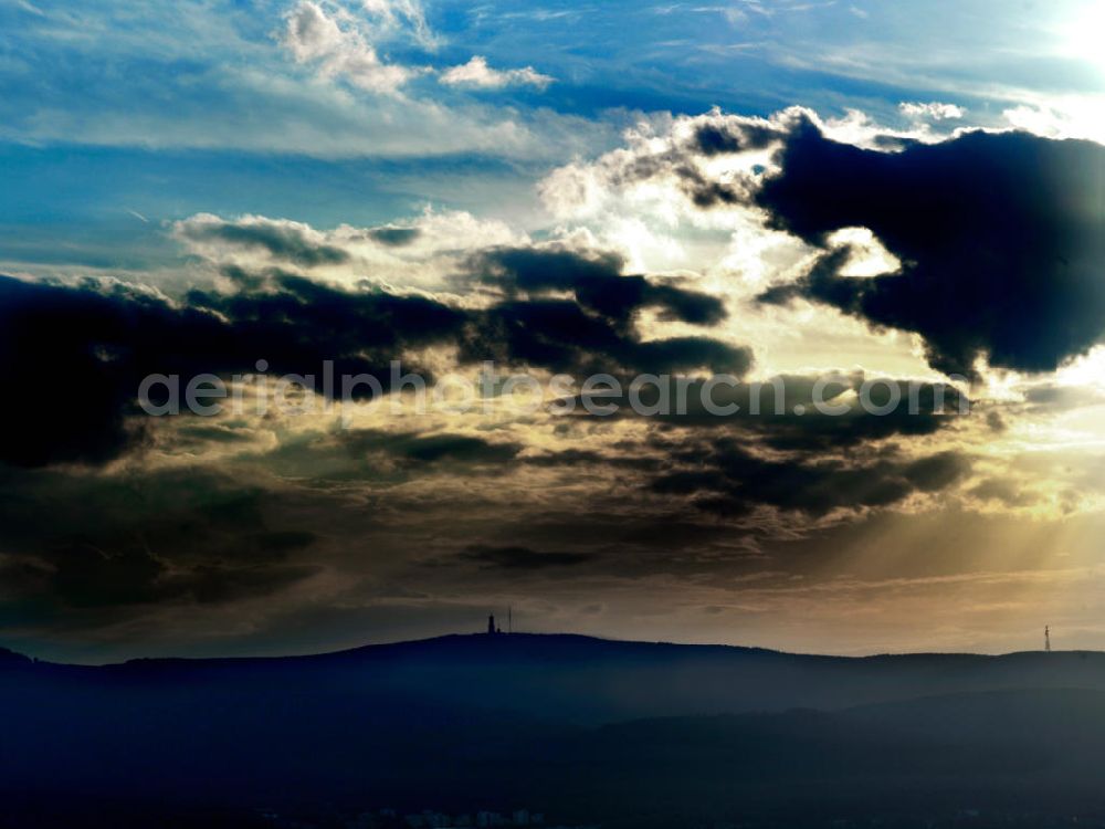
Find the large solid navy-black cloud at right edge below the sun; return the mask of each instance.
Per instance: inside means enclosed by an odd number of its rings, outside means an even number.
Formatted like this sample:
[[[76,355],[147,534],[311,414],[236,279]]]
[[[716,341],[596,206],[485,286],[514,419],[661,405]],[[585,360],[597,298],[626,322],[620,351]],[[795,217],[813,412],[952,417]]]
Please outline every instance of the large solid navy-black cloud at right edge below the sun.
[[[899,153],[861,149],[800,122],[781,171],[756,196],[775,228],[825,248],[833,231],[871,229],[903,263],[874,277],[841,275],[829,251],[801,295],[873,325],[912,330],[929,363],[970,375],[976,358],[1055,369],[1105,330],[1105,147],[1023,133],[968,133]]]

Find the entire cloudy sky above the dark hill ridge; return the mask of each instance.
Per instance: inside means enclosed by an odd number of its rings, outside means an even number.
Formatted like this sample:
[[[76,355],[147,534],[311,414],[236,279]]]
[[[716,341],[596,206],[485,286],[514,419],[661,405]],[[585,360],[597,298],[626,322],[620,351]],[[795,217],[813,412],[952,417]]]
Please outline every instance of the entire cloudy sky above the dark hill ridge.
[[[0,0],[0,646],[1105,648],[1103,27]]]

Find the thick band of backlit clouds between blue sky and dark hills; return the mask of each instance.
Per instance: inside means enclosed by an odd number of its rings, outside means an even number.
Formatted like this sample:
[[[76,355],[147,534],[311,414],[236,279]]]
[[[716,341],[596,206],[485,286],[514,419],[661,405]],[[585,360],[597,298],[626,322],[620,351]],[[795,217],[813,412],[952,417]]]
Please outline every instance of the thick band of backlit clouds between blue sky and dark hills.
[[[392,13],[372,12],[413,31]],[[373,42],[335,25],[296,30],[325,45],[308,69]],[[320,83],[355,85],[343,66]],[[20,403],[0,413],[0,617],[29,638],[249,649],[305,629],[359,641],[369,620],[438,632],[515,602],[549,628],[793,643],[857,607],[905,625],[890,594],[998,602],[1061,583],[1042,528],[1090,533],[1105,485],[1087,427],[1105,396],[1080,357],[1103,328],[1086,175],[1101,148],[941,135],[940,114],[912,113],[929,123],[912,132],[802,109],[659,118],[552,171],[560,225],[541,231],[432,209],[366,227],[194,213],[160,229],[185,276],[0,279],[0,379]],[[694,264],[642,266],[662,233]],[[562,416],[495,387],[478,411],[415,416],[387,385],[399,358],[431,377],[487,359],[541,379],[671,372],[643,402],[692,402],[645,417],[622,395],[617,414]],[[975,417],[924,359],[975,372]],[[135,406],[150,372],[320,380],[324,360],[382,397],[360,387],[375,402],[349,422]],[[831,416],[814,405],[829,371]],[[701,403],[713,372],[736,411]],[[873,413],[871,385],[876,403],[913,389],[918,407]],[[1082,567],[1090,545],[1062,538]]]

